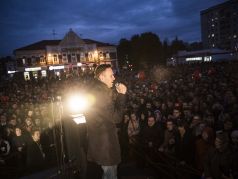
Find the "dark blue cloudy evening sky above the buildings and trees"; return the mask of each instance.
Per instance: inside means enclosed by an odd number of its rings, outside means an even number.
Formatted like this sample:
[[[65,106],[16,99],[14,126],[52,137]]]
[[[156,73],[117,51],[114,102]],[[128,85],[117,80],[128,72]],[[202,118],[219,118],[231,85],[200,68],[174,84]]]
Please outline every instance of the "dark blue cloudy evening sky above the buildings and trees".
[[[134,34],[200,41],[200,11],[225,0],[1,0],[0,56],[40,40],[82,38],[118,44]],[[55,35],[53,35],[53,29]]]

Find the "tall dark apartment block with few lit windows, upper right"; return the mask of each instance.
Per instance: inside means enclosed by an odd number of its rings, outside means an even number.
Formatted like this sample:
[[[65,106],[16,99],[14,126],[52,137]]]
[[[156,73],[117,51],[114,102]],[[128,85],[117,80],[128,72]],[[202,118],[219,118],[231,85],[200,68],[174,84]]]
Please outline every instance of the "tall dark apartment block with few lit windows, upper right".
[[[205,49],[238,51],[238,1],[228,0],[201,11],[202,42]]]

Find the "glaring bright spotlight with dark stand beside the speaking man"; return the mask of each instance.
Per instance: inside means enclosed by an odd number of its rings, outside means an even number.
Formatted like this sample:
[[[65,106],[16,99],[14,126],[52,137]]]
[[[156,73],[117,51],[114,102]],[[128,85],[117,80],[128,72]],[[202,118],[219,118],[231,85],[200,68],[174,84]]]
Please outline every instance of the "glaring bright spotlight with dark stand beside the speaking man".
[[[67,154],[69,159],[73,159],[74,171],[78,171],[81,179],[86,179],[87,159],[86,159],[86,117],[84,115],[86,108],[90,106],[89,95],[80,93],[68,96],[68,116],[65,126]]]

